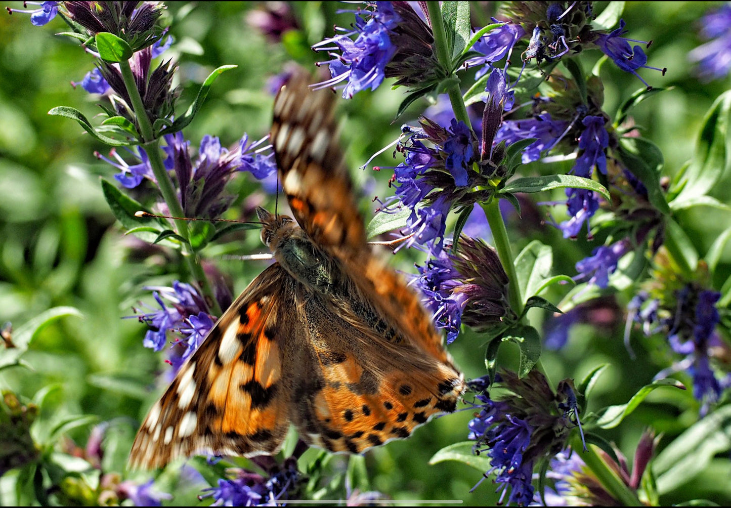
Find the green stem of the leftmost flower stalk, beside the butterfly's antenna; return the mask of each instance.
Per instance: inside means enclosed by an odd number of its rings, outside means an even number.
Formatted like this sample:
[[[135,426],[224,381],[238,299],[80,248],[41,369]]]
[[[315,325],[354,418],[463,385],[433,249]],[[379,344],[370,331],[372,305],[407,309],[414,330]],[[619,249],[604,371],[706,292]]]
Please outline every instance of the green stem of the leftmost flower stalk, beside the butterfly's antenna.
[[[175,192],[175,186],[173,181],[170,180],[170,175],[165,169],[162,156],[160,155],[159,140],[154,138],[154,132],[152,130],[152,123],[148,118],[147,111],[145,111],[145,105],[140,96],[140,91],[137,89],[137,83],[135,83],[135,76],[132,74],[132,67],[129,67],[129,61],[119,62],[119,67],[122,72],[122,79],[124,80],[124,86],[129,94],[129,99],[132,100],[132,109],[135,111],[135,118],[137,118],[137,125],[140,126],[140,132],[143,137],[144,143],[142,147],[145,149],[150,159],[150,167],[152,173],[155,175],[157,184],[162,194],[162,199],[167,204],[167,209],[178,219],[173,219],[175,222],[175,229],[178,235],[185,238],[183,242],[183,258],[186,260],[188,269],[193,277],[193,280],[198,284],[202,295],[204,295],[208,307],[211,313],[216,316],[221,316],[221,308],[219,307],[216,296],[213,293],[211,284],[208,283],[208,278],[205,276],[202,265],[200,265],[199,259],[192,246],[189,243],[189,230],[188,224],[185,220],[181,219],[184,216],[183,207],[178,200],[178,193]]]

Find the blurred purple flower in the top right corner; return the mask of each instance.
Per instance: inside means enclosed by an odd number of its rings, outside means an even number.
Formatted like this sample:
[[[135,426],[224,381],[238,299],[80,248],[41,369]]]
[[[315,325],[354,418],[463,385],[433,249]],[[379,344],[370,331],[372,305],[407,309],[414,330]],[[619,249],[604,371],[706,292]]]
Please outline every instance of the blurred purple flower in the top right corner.
[[[700,20],[700,35],[711,39],[688,54],[705,83],[726,77],[731,71],[731,5],[723,4]]]

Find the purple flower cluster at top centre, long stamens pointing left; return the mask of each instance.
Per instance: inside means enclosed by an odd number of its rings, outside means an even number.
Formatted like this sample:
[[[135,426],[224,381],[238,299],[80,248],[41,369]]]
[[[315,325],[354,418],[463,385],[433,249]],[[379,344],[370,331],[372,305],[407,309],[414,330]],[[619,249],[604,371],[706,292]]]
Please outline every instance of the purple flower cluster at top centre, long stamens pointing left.
[[[396,47],[391,43],[390,31],[400,21],[401,18],[393,11],[390,2],[379,1],[375,10],[356,13],[354,30],[314,45],[316,50],[341,51],[340,55],[330,52],[334,58],[326,63],[330,66],[332,78],[320,86],[326,88],[347,80],[343,89],[345,99],[350,99],[366,88],[378,88],[385,78],[386,65],[396,53]],[[355,41],[350,39],[356,34]],[[336,47],[323,47],[330,44]]]

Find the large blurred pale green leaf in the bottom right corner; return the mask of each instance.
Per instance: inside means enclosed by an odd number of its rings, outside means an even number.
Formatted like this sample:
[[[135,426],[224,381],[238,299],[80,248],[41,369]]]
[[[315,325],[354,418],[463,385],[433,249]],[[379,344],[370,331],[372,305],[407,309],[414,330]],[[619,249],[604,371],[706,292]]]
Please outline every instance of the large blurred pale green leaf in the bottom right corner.
[[[717,408],[667,444],[652,462],[662,495],[692,481],[731,449],[731,405]]]

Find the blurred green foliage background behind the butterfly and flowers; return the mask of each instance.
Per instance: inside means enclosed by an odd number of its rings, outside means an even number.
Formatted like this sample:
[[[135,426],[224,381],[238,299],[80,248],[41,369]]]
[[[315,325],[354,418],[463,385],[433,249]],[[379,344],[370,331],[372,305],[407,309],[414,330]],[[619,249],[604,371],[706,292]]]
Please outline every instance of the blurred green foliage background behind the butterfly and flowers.
[[[604,4],[597,2],[596,10],[601,11]],[[20,2],[8,5],[22,8]],[[718,3],[626,4],[623,17],[629,37],[654,39],[647,51],[648,64],[667,67],[664,77],[647,69],[641,69],[641,75],[656,88],[673,87],[632,111],[643,136],[662,149],[667,175],[673,175],[689,159],[702,116],[713,99],[729,86],[728,80],[699,83],[687,61],[689,50],[700,42],[695,23],[713,5]],[[170,20],[175,45],[166,56],[180,64],[181,110],[192,101],[197,84],[211,70],[224,64],[238,65],[216,81],[200,115],[184,132],[193,146],[200,143],[204,134],[219,136],[222,145],[233,145],[244,132],[252,137],[266,134],[273,101],[266,90],[268,78],[292,60],[311,65],[327,59],[303,48],[332,35],[333,24],[352,23],[352,14],[336,14],[337,9],[343,8],[341,4],[297,2],[292,8],[301,30],[288,34],[286,45],[282,45],[250,26],[249,12],[257,6],[256,2],[173,2],[167,9],[165,16]],[[475,19],[486,20],[496,10],[496,4],[475,2],[474,8],[480,10]],[[154,387],[154,374],[163,368],[161,355],[143,348],[144,325],[137,319],[123,318],[132,314],[132,306],[139,306],[140,300],[151,303],[143,285],[170,285],[175,278],[175,266],[170,265],[164,251],[148,257],[141,255],[140,244],[124,237],[115,224],[99,185],[99,178],[111,180],[115,171],[93,155],[95,150],[108,153],[108,148],[96,143],[71,121],[46,114],[58,105],[77,107],[88,118],[98,112],[94,96],[69,84],[80,81],[93,64],[91,56],[75,42],[53,35],[63,29],[58,19],[49,26],[34,27],[27,15],[0,16],[0,324],[12,322],[18,327],[54,306],[78,308],[83,318],[69,316],[45,327],[24,355],[32,370],[0,371],[0,387],[32,398],[44,387],[56,386],[50,395],[51,403],[44,409],[48,414],[43,420],[48,425],[69,414],[94,414],[99,421],[117,419],[114,421],[118,436],[115,447],[110,444],[113,450],[106,460],[110,468],[121,471],[138,422],[159,393],[160,387]],[[599,56],[598,52],[584,53],[583,68],[591,69]],[[609,115],[626,97],[643,88],[636,77],[612,65],[602,67],[602,79],[605,111]],[[390,195],[387,181],[391,173],[355,168],[366,162],[371,153],[392,142],[398,136],[398,126],[406,121],[413,124],[427,106],[425,102],[412,105],[404,118],[392,124],[401,99],[401,90],[382,86],[374,93],[342,100],[338,106],[344,115],[343,137],[349,147],[347,158],[352,174],[367,189],[368,197]],[[387,151],[375,163],[393,166],[398,160],[391,159]],[[727,198],[724,194],[729,183],[719,184],[721,199]],[[233,208],[247,208],[251,200],[273,203],[273,197],[262,194],[249,175],[239,175],[232,182],[232,192],[239,196]],[[539,199],[546,200],[545,196]],[[369,204],[371,210],[375,206]],[[545,207],[536,211],[538,219],[545,218]],[[554,213],[558,220],[562,219],[561,211]],[[678,218],[701,253],[728,225],[727,217],[708,219]],[[524,216],[523,221],[526,220],[529,217]],[[575,273],[573,264],[577,259],[603,240],[569,242],[539,220],[520,227],[513,222],[510,226],[516,252],[537,238],[555,249],[556,273],[569,275]],[[264,249],[258,232],[251,232],[242,240],[236,246],[240,253]],[[224,251],[230,249],[214,249],[210,254],[219,268],[230,275],[238,294],[265,265],[221,259]],[[393,262],[401,270],[414,273],[414,260],[423,261],[419,253],[403,252]],[[724,257],[723,262],[720,281],[729,274],[731,256]],[[558,301],[561,295],[555,296],[554,301]],[[619,295],[619,306],[624,308],[631,296]],[[536,319],[542,316],[537,315]],[[624,403],[667,365],[668,359],[656,357],[653,343],[639,334],[633,335],[639,358],[629,360],[621,341],[622,319],[621,315],[611,316],[607,322],[611,324],[603,329],[577,327],[567,348],[542,357],[553,382],[564,377],[580,379],[596,365],[610,365],[594,392],[590,410]],[[464,333],[450,349],[468,378],[485,374],[484,346],[479,335]],[[505,349],[504,365],[515,365],[513,353]],[[369,483],[364,481],[361,486],[381,490],[393,498],[461,499],[466,505],[493,504],[496,496],[490,482],[469,493],[480,479],[474,469],[458,463],[428,465],[434,452],[466,439],[466,423],[471,416],[466,410],[433,420],[411,439],[368,452]],[[669,440],[696,416],[697,404],[691,393],[657,390],[629,420],[606,437],[616,441],[631,458],[646,425],[664,432],[664,439]],[[89,430],[90,427],[77,428],[70,436],[83,446]],[[303,460],[311,456],[314,455],[305,455]],[[345,458],[334,458],[330,468],[335,473],[342,471],[345,464]],[[721,504],[731,502],[726,497],[731,474],[728,461],[719,461],[713,467],[713,474],[696,478],[692,485],[678,485],[683,490],[681,498],[697,496]],[[173,474],[169,476],[160,482],[172,488],[175,479]],[[719,485],[718,478],[724,479],[724,485]],[[199,502],[195,497],[199,490],[199,486],[178,488],[171,503],[195,504]],[[204,500],[202,504],[209,502]]]

